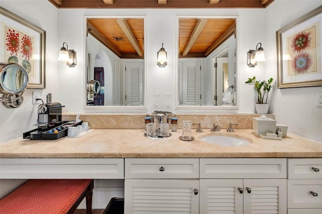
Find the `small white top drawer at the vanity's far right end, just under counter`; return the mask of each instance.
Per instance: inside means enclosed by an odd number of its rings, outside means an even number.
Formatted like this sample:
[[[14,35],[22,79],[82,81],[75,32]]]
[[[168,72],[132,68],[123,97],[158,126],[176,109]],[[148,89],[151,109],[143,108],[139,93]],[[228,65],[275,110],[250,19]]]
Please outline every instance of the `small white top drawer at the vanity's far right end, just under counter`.
[[[288,159],[288,179],[322,179],[322,158]]]

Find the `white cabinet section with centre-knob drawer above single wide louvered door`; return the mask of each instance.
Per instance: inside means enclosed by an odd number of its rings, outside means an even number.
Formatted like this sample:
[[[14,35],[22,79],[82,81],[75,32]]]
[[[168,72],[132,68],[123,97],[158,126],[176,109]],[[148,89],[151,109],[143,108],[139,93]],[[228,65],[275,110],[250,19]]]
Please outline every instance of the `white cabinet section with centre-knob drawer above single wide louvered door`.
[[[126,158],[124,213],[199,213],[198,158]]]

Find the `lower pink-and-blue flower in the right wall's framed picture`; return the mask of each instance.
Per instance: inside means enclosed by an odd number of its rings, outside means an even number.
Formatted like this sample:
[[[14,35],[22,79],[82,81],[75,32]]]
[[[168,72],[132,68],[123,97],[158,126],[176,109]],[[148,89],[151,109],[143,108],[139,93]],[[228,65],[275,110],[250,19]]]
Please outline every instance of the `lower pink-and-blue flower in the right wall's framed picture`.
[[[294,69],[295,74],[303,74],[308,71],[312,65],[312,57],[307,52],[299,52],[294,56],[291,62],[291,66]]]

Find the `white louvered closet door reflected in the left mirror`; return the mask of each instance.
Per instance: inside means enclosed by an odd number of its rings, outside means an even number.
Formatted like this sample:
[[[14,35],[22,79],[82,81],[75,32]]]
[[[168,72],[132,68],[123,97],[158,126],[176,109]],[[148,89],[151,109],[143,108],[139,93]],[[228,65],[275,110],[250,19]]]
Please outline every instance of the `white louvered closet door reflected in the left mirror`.
[[[126,73],[126,105],[143,105],[144,73],[143,64],[127,62]]]

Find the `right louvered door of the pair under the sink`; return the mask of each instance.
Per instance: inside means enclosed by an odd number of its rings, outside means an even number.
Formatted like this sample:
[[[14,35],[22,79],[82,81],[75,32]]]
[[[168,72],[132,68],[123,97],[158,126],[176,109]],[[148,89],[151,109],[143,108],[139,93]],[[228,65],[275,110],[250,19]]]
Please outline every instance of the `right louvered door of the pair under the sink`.
[[[286,214],[286,179],[244,179],[244,213]]]

